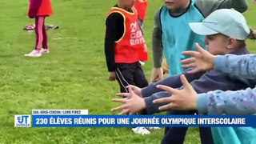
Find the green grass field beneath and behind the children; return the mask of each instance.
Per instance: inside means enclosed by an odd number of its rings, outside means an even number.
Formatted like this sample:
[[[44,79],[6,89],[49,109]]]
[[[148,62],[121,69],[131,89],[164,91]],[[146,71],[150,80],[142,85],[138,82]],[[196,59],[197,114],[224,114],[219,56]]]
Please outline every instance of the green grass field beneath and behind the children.
[[[256,5],[246,12],[256,28]],[[107,80],[103,52],[106,12],[115,1],[54,0],[54,16],[47,24],[50,54],[24,58],[34,47],[34,34],[23,31],[26,0],[0,2],[0,143],[159,143],[163,130],[135,135],[130,128],[14,128],[14,114],[33,109],[88,109],[90,114],[111,114],[110,102],[118,92],[117,82]],[[145,37],[150,49],[153,14],[162,1],[150,1]],[[255,42],[248,41],[251,52]],[[151,56],[151,49],[150,49]],[[150,62],[144,70],[150,78]],[[198,130],[190,129],[186,143],[199,143]]]

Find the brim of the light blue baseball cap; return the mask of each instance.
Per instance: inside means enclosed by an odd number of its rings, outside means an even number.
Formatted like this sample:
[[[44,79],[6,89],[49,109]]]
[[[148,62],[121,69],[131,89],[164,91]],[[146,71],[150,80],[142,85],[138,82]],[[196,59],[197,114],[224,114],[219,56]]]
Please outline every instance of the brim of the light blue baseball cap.
[[[211,35],[218,34],[218,31],[212,30],[207,26],[204,26],[202,22],[191,22],[189,23],[190,29],[194,31],[194,33],[199,35]]]

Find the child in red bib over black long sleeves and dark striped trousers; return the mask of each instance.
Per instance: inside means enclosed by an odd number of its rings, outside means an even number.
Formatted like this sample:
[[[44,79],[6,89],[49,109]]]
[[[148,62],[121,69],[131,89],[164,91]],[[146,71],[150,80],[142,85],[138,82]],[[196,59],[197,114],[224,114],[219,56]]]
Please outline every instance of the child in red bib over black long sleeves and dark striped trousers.
[[[117,79],[122,93],[126,86],[148,86],[139,61],[147,61],[148,53],[142,30],[138,25],[135,0],[118,0],[106,18],[105,55],[109,80]],[[150,134],[144,127],[132,129],[136,134]]]

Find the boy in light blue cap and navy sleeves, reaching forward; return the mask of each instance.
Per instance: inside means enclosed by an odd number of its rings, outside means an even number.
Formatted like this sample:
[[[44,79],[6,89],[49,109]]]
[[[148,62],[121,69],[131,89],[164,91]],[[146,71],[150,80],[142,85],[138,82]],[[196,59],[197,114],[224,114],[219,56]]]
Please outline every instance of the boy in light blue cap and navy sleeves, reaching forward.
[[[219,20],[222,19],[222,22]],[[201,23],[200,23],[201,24]],[[200,27],[190,24],[191,29],[194,32],[200,30],[206,34],[205,44],[207,50],[211,54],[249,54],[246,50],[245,39],[248,37],[250,30],[246,25],[246,20],[242,14],[235,10],[217,10],[215,13],[210,14]],[[203,29],[205,28],[205,29]],[[207,29],[206,29],[207,28]],[[247,87],[254,87],[256,84],[255,79],[239,78],[237,76],[229,76],[227,74],[219,73],[216,70],[210,70],[201,72],[198,74],[184,73],[190,85],[198,94],[206,93],[210,90],[242,90]],[[158,107],[162,104],[154,104],[153,101],[158,98],[166,98],[170,96],[170,93],[158,89],[158,85],[170,86],[173,88],[182,88],[182,82],[180,81],[180,75],[174,75],[173,77],[166,78],[160,82],[154,83],[146,88],[137,92],[137,94],[143,98],[139,98],[136,94],[122,94],[128,95],[130,99],[120,100],[114,99],[114,102],[123,102],[124,106],[120,106],[114,110],[125,109],[130,113],[138,112],[140,110],[147,110],[148,114],[154,114],[158,112]],[[159,92],[159,93],[157,93]],[[136,99],[136,102],[134,102]],[[165,102],[166,104],[167,102]],[[194,114],[194,111],[187,111],[187,114]],[[184,111],[174,111],[173,114],[186,114]],[[186,129],[186,128],[184,128]],[[179,129],[182,130],[182,129]],[[179,143],[170,141],[174,139],[172,137],[178,137],[181,134],[178,131],[177,134],[169,133],[166,131],[165,137],[162,143]],[[232,143],[232,142],[231,142]]]

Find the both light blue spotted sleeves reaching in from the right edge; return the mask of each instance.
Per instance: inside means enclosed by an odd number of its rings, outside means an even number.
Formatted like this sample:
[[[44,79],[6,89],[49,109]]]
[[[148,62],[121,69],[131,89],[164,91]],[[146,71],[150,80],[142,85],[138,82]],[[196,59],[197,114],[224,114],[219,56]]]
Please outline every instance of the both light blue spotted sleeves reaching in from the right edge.
[[[256,79],[256,54],[218,56],[214,65],[218,72]],[[256,114],[256,87],[198,94],[198,111],[208,114]]]

